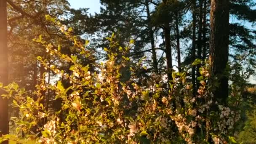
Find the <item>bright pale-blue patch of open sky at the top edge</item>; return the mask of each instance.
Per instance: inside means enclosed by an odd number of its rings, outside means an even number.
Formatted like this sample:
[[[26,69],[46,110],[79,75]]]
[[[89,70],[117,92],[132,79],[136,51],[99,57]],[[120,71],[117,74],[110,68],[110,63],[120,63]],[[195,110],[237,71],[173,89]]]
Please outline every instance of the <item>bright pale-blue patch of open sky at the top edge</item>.
[[[99,13],[101,4],[99,0],[69,0],[71,8],[90,8],[89,13]]]

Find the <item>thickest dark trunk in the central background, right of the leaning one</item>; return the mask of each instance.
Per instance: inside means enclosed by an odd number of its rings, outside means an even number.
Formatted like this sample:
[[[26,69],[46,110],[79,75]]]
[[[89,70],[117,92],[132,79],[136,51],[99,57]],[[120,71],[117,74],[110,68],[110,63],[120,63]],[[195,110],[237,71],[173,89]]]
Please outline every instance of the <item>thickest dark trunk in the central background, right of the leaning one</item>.
[[[168,80],[172,80],[172,54],[171,54],[171,28],[169,26],[169,23],[165,24],[164,28],[164,34],[165,34],[165,56],[166,56],[166,63],[167,63],[167,76]]]

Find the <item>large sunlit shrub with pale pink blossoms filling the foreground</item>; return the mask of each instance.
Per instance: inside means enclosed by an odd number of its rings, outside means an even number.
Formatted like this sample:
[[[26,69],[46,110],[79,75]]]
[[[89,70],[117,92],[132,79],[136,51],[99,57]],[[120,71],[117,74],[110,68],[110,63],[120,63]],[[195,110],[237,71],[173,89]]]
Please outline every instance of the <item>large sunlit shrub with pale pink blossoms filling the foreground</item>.
[[[33,94],[12,83],[2,87],[18,107],[20,117],[11,117],[16,124],[16,134],[5,135],[0,141],[36,141],[41,144],[95,144],[95,143],[203,143],[211,134],[215,144],[235,142],[232,129],[239,120],[239,112],[219,105],[211,111],[213,94],[208,86],[208,63],[200,68],[200,87],[192,95],[192,84],[187,70],[173,72],[173,80],[166,86],[165,75],[151,73],[142,84],[136,74],[141,62],[134,64],[127,57],[133,45],[122,48],[114,41],[115,35],[107,37],[109,48],[104,48],[108,59],[84,66],[79,57],[94,60],[94,53],[88,50],[88,41],[81,43],[72,36],[72,29],[59,21],[47,17],[60,27],[66,37],[74,42],[79,56],[61,53],[61,46],[35,39],[45,47],[46,52],[61,64],[69,64],[70,72],[59,69],[59,64],[48,63],[38,57],[46,69],[50,69],[61,80],[45,83],[42,80]],[[118,52],[113,52],[118,48]],[[116,50],[115,50],[116,51]],[[119,55],[122,55],[119,57]],[[195,61],[193,64],[203,63]],[[93,66],[93,68],[92,68]],[[128,80],[121,80],[121,69],[131,73]],[[90,69],[94,69],[91,70]],[[163,78],[164,77],[164,78]],[[64,85],[68,82],[69,85]],[[53,95],[61,108],[49,108],[45,99]],[[206,125],[210,125],[207,129]],[[24,135],[24,136],[22,136]],[[228,137],[229,136],[229,137]]]

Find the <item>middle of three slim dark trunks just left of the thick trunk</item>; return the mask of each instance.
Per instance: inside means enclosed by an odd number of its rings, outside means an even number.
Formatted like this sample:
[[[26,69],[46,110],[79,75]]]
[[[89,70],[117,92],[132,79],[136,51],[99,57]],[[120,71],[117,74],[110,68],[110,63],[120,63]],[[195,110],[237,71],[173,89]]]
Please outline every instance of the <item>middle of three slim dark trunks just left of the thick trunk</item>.
[[[198,22],[198,37],[197,37],[197,59],[202,59],[202,27],[203,27],[203,0],[199,0],[199,22]],[[197,77],[200,77],[201,65],[197,65]],[[197,89],[199,88],[199,82],[197,82]]]

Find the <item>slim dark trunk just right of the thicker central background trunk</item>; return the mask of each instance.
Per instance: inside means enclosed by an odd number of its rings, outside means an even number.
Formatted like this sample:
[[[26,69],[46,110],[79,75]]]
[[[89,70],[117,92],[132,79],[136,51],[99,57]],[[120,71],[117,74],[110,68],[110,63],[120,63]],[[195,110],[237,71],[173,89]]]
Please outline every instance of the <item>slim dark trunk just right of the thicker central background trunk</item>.
[[[176,12],[175,16],[175,25],[176,25],[176,43],[177,43],[177,58],[178,58],[178,69],[181,72],[181,50],[179,44],[179,14]]]

